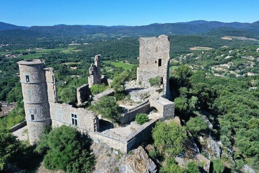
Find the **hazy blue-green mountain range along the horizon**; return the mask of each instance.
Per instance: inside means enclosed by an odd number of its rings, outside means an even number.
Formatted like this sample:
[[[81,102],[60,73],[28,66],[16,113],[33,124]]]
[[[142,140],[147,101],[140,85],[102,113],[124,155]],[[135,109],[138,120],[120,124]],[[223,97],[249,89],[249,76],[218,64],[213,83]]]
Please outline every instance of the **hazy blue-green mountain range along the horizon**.
[[[81,36],[86,34],[105,33],[105,34],[128,34],[128,35],[145,35],[157,36],[161,34],[166,35],[195,35],[195,34],[208,34],[221,33],[221,35],[228,35],[225,33],[237,33],[242,35],[246,33],[247,36],[259,35],[259,21],[254,23],[224,23],[218,21],[190,21],[178,23],[165,23],[165,24],[149,24],[143,26],[103,26],[103,25],[65,25],[58,24],[54,26],[16,26],[0,22],[0,32],[5,31],[14,32],[10,30],[22,30],[19,32],[32,31],[38,35],[69,35]],[[8,30],[8,31],[7,31]],[[235,35],[235,34],[234,34]],[[235,36],[238,36],[235,35]]]

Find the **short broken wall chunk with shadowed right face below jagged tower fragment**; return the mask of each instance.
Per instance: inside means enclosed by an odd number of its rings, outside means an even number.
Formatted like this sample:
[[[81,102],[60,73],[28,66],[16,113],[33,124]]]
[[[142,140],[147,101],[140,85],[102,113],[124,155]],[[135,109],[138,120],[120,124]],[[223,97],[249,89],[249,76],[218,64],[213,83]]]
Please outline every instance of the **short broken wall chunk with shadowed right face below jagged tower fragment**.
[[[90,89],[88,84],[84,84],[77,88],[76,90],[76,96],[77,96],[77,104],[81,105],[82,103],[86,102],[87,100],[90,100]]]

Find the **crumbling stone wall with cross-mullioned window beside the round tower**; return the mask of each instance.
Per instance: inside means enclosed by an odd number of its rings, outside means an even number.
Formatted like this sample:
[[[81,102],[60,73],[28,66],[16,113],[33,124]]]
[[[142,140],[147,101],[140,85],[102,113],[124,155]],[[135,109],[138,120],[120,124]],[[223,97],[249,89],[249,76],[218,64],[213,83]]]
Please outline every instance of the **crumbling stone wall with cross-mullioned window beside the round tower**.
[[[99,130],[99,118],[92,111],[75,108],[69,104],[49,102],[52,126],[72,125],[71,114],[77,115],[77,127],[87,131]]]

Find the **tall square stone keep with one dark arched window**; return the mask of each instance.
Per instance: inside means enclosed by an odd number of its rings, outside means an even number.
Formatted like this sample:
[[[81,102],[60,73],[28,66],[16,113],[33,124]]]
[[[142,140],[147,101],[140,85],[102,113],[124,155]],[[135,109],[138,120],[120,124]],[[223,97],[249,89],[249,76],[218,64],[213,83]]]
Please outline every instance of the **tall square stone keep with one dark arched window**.
[[[170,41],[168,36],[139,38],[139,67],[137,82],[142,86],[150,86],[149,79],[161,77],[161,85],[169,97]]]

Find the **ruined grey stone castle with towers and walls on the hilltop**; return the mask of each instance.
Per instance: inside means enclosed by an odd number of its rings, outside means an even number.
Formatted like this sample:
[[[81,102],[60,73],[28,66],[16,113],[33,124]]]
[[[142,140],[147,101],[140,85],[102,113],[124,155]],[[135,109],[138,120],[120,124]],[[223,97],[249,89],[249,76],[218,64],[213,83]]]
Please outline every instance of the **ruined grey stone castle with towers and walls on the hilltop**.
[[[148,45],[147,45],[148,44]],[[152,55],[151,47],[156,46]],[[163,78],[164,93],[169,94],[168,89],[168,62],[169,62],[169,40],[167,36],[158,38],[140,38],[140,67],[137,78],[142,85],[148,86],[148,79],[160,76]],[[144,55],[144,51],[147,51]],[[159,53],[160,52],[160,53]],[[145,57],[150,60],[149,67]],[[153,62],[156,61],[157,62]],[[152,61],[152,63],[151,63]],[[69,104],[57,103],[57,89],[53,68],[46,68],[45,62],[40,59],[23,60],[17,62],[20,69],[20,82],[24,98],[25,119],[28,126],[30,144],[38,141],[46,128],[61,125],[74,126],[80,132],[88,134],[94,142],[104,142],[114,149],[128,152],[134,145],[140,144],[151,136],[151,129],[157,121],[174,117],[174,103],[162,97],[159,93],[154,97],[146,98],[135,107],[126,109],[121,116],[123,127],[100,130],[100,120],[93,112],[84,108],[75,108]],[[146,63],[146,64],[145,64]],[[157,64],[158,66],[156,66]],[[160,66],[159,66],[160,64]],[[149,70],[148,70],[149,69]],[[101,82],[100,55],[95,57],[95,64],[89,68],[91,85]],[[143,73],[141,73],[143,72]],[[96,80],[96,78],[98,78]],[[100,80],[99,80],[100,79]],[[138,89],[138,88],[137,88]],[[78,88],[78,100],[88,100],[88,85]],[[145,113],[156,109],[157,112],[150,114],[150,121],[143,125],[134,122],[137,113]],[[121,131],[126,132],[121,133]]]

